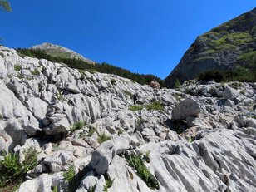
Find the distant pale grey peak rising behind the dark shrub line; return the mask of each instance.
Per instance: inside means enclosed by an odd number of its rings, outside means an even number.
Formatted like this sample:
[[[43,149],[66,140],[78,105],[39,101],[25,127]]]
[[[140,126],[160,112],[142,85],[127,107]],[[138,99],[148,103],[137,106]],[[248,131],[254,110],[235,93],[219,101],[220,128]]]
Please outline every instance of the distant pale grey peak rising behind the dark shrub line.
[[[72,51],[71,49],[68,49],[66,47],[62,47],[59,45],[54,45],[49,42],[44,42],[40,45],[33,46],[32,49],[40,49],[46,52],[47,54],[53,56],[53,57],[62,57],[62,58],[76,58],[81,59],[89,64],[94,64],[96,62],[91,61],[90,59],[87,59],[77,52]]]

